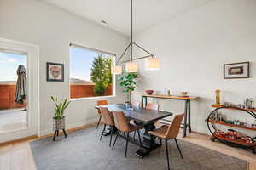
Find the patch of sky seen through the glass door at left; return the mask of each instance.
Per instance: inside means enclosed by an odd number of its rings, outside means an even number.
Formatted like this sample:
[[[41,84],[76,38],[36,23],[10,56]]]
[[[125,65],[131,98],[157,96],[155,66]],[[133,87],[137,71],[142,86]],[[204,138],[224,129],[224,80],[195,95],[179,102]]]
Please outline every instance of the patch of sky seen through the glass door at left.
[[[0,82],[17,81],[19,65],[26,68],[26,55],[0,52]]]

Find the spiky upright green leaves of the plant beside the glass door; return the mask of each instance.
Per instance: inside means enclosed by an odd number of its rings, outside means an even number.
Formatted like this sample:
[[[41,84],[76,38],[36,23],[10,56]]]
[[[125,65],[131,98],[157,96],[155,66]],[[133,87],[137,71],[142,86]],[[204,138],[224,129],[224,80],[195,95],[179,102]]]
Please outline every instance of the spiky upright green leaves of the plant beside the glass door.
[[[55,116],[54,119],[62,119],[64,118],[64,111],[67,109],[67,106],[69,105],[70,101],[66,99],[58,100],[54,96],[50,96],[50,99],[53,100],[55,103]]]

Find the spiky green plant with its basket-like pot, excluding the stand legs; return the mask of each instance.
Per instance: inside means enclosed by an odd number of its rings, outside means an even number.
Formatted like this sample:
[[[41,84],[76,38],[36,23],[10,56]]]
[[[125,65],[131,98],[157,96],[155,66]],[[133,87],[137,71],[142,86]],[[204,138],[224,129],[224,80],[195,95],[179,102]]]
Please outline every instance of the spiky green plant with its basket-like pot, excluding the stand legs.
[[[50,97],[51,100],[55,103],[55,116],[53,117],[53,130],[59,131],[65,129],[65,116],[64,111],[69,105],[70,101],[66,99],[61,99],[60,101],[54,97]]]

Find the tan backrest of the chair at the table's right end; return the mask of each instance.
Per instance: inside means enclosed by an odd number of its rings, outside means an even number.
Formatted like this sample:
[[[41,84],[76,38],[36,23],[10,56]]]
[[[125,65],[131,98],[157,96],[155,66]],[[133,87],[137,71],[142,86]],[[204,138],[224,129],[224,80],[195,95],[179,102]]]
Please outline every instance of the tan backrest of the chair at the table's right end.
[[[168,130],[166,132],[166,139],[174,139],[177,137],[184,115],[185,114],[180,114],[174,117],[172,124],[169,125]]]

